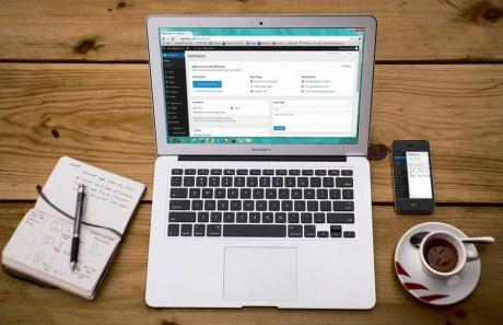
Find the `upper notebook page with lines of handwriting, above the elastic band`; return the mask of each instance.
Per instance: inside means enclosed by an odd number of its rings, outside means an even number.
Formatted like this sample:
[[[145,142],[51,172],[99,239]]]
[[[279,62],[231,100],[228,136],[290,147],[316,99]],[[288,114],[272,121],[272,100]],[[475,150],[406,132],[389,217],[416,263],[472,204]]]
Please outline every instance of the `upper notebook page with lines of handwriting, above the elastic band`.
[[[77,188],[85,185],[83,220],[124,233],[144,185],[78,160],[62,156],[44,186],[47,198],[70,216],[75,213]],[[35,208],[57,213],[43,199]]]

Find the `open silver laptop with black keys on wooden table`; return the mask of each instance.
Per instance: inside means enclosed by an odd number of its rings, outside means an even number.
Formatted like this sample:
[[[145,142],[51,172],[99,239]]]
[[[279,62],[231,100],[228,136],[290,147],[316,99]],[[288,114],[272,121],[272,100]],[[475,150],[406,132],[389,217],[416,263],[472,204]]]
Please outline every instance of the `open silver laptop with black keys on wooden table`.
[[[371,309],[372,16],[147,21],[147,304]]]

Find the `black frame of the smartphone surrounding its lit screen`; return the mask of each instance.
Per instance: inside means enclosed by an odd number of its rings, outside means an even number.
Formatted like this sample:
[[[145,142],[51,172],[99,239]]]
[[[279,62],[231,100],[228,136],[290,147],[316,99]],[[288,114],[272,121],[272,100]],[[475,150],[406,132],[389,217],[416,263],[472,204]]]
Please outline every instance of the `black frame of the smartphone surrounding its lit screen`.
[[[398,198],[395,186],[395,154],[407,152],[428,152],[430,164],[430,186],[432,198]],[[393,187],[395,194],[395,209],[399,212],[433,212],[435,209],[435,188],[433,187],[433,169],[430,143],[425,140],[395,140],[391,146]]]

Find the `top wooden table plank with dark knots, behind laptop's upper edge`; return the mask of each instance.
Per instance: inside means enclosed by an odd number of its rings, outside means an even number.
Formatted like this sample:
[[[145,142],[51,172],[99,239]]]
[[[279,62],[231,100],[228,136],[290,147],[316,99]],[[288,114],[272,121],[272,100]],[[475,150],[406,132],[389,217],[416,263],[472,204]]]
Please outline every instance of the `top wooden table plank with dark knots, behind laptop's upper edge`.
[[[378,60],[502,60],[499,0],[2,1],[0,59],[147,60],[151,14],[373,14]]]

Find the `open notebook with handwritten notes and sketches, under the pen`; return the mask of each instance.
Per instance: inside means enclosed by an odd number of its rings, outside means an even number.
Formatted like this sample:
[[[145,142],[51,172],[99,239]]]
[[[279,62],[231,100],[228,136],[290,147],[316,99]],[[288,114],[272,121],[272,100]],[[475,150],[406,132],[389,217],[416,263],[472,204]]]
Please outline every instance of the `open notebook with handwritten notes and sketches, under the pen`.
[[[85,186],[83,224],[75,270],[70,270],[77,187]],[[145,186],[61,158],[43,188],[43,198],[21,220],[2,252],[7,271],[93,299]],[[67,216],[65,216],[67,214]]]

